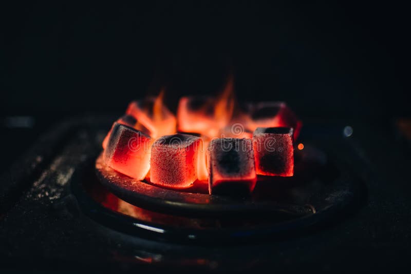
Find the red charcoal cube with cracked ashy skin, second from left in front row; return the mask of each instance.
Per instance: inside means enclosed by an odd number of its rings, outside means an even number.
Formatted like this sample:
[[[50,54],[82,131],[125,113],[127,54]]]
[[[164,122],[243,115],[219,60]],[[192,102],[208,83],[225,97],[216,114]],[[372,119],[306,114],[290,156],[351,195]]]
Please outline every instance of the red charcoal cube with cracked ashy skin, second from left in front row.
[[[165,135],[151,149],[150,181],[172,188],[189,187],[197,179],[201,138],[188,134]]]

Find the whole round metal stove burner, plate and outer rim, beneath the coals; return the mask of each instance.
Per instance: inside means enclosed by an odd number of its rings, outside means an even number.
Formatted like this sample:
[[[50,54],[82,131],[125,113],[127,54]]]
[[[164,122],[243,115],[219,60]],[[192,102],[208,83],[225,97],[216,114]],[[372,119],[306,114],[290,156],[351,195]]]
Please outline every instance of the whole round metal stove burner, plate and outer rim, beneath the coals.
[[[238,242],[301,231],[338,216],[358,202],[360,192],[343,164],[308,144],[296,154],[293,178],[259,178],[244,198],[136,181],[105,166],[101,155],[96,176],[93,164],[72,181],[83,211],[116,229],[168,241]]]

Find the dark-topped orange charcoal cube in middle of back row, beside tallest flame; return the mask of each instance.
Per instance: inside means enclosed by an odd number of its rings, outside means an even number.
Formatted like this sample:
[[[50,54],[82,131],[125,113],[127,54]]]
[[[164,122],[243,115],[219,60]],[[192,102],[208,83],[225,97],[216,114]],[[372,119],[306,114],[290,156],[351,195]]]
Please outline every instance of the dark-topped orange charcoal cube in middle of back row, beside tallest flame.
[[[208,96],[181,97],[177,109],[179,131],[203,133],[213,127],[213,99]]]

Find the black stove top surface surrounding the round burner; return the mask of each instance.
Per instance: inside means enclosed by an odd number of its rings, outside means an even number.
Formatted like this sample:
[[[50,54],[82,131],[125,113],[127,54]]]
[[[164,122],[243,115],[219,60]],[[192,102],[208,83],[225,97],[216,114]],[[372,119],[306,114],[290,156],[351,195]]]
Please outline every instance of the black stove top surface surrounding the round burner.
[[[350,125],[352,135],[344,135],[347,125],[336,121],[306,123],[302,142],[345,163],[358,190],[355,202],[297,231],[283,229],[234,242],[210,238],[207,243],[130,231],[124,229],[126,224],[106,218],[109,211],[85,205],[87,195],[79,191],[85,178],[95,175],[101,141],[113,120],[88,116],[60,122],[3,174],[3,268],[359,272],[406,266],[411,187],[404,178],[409,150],[385,129],[357,123]]]

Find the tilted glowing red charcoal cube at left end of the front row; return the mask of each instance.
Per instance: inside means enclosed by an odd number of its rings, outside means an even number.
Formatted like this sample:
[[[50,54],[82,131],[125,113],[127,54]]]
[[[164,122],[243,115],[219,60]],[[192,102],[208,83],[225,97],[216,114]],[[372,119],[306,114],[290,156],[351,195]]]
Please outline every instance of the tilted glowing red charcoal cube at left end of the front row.
[[[104,150],[107,166],[137,180],[150,169],[150,136],[132,127],[115,123]]]

